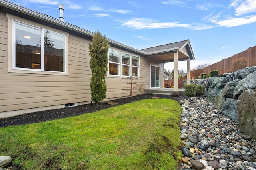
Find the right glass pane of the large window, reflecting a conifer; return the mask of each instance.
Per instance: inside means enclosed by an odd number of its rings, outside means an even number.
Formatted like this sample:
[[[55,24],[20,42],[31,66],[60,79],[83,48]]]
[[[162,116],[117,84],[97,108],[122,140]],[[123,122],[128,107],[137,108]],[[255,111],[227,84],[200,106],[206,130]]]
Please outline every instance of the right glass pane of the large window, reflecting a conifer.
[[[44,30],[44,70],[64,71],[65,36]]]

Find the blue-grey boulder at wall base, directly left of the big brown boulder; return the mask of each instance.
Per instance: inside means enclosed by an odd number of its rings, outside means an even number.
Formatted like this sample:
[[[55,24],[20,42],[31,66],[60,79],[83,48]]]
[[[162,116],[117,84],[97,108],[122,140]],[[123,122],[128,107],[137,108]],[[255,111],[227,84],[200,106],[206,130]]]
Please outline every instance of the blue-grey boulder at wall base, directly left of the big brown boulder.
[[[238,123],[238,108],[235,99],[226,98],[222,105],[223,114]]]

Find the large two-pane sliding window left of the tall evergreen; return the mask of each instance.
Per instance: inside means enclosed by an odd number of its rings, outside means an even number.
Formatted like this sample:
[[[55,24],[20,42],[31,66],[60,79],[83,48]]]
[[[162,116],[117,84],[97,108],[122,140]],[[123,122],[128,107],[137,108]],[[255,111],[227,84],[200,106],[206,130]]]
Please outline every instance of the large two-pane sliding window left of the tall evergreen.
[[[14,69],[65,72],[65,36],[14,21]]]

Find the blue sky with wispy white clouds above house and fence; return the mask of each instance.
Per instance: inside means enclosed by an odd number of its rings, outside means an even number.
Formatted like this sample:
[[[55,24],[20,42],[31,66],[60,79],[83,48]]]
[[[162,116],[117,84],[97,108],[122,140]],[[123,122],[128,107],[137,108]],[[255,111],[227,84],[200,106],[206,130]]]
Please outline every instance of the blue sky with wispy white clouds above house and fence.
[[[256,0],[10,0],[135,49],[190,40],[195,61],[213,64],[256,45]],[[165,69],[172,70],[173,63]],[[178,63],[186,70],[186,62]]]

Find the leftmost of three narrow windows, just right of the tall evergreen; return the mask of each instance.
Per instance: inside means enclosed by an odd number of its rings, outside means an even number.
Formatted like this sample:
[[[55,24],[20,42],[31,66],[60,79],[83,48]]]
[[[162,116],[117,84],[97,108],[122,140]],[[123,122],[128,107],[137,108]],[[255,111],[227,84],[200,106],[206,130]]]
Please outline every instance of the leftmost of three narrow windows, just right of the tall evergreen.
[[[119,75],[120,51],[108,50],[108,74]]]

